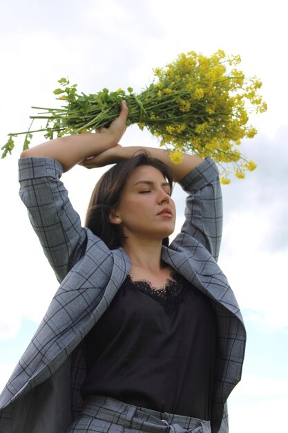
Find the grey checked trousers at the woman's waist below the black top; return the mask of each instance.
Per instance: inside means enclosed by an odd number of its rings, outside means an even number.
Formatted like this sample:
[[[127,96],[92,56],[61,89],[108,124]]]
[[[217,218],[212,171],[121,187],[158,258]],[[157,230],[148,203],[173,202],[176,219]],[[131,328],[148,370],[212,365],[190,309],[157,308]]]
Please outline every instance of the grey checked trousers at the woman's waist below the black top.
[[[211,433],[210,421],[156,412],[115,398],[90,396],[66,433]]]

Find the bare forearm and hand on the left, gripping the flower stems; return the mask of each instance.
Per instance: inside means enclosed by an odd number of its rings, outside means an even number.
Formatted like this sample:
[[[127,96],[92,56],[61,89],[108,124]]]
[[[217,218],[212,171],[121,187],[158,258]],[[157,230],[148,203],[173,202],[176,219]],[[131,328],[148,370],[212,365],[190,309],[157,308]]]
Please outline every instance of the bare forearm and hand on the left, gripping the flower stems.
[[[122,101],[119,116],[110,127],[99,129],[97,133],[81,133],[79,135],[55,138],[41,145],[31,147],[21,153],[21,158],[44,157],[57,160],[67,172],[74,165],[86,158],[101,154],[115,147],[126,130],[128,107]]]

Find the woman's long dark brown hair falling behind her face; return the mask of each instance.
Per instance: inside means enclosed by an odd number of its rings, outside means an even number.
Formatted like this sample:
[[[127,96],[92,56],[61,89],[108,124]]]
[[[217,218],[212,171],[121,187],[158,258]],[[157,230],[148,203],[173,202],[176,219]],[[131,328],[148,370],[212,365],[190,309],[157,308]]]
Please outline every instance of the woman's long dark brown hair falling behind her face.
[[[113,208],[117,208],[121,200],[121,193],[128,176],[140,165],[151,165],[158,169],[166,178],[171,190],[173,186],[173,172],[157,158],[152,158],[147,151],[135,154],[128,160],[120,161],[99,179],[90,198],[86,214],[86,227],[106,243],[111,250],[122,245],[124,236],[121,225],[109,221],[109,214]],[[168,238],[162,243],[168,246]]]

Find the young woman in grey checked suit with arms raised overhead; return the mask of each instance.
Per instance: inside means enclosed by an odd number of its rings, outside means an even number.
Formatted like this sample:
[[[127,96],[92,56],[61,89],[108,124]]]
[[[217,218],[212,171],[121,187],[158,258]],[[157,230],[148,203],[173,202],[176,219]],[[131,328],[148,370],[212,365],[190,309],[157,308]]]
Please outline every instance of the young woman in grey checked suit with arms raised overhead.
[[[1,433],[228,432],[245,331],[218,267],[222,202],[210,158],[171,163],[118,145],[128,109],[97,133],[23,151],[21,199],[61,282],[1,395]],[[62,172],[115,164],[86,228]],[[172,181],[186,221],[175,227]]]

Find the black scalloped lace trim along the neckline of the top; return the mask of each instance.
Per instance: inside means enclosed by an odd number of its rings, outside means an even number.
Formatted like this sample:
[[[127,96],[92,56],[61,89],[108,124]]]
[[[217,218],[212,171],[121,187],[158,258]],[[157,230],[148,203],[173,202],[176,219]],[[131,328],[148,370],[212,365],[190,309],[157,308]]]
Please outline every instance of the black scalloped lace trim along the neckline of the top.
[[[146,279],[133,280],[130,275],[127,276],[126,283],[132,288],[146,293],[162,304],[166,310],[171,310],[174,304],[182,300],[184,282],[182,277],[177,273],[171,273],[171,278],[166,279],[164,288],[155,288],[151,282]]]

